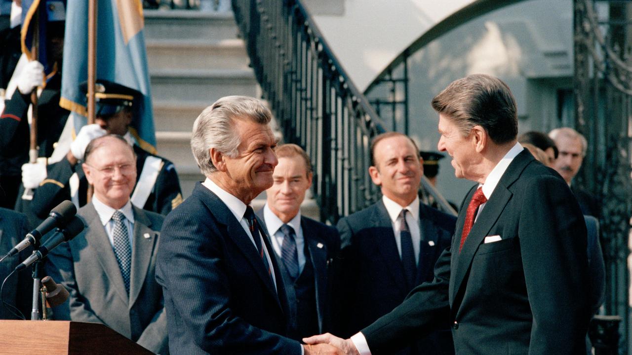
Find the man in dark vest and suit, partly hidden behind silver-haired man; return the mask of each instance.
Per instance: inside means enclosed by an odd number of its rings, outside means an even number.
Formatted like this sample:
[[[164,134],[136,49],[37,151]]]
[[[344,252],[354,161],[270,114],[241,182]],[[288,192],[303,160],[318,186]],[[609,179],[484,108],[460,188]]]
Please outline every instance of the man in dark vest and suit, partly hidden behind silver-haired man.
[[[295,338],[327,332],[331,327],[329,295],[332,263],[340,248],[334,227],[301,215],[301,203],[312,186],[310,158],[295,144],[275,150],[279,165],[274,184],[266,190],[267,202],[257,212],[264,220],[272,249],[281,260]]]

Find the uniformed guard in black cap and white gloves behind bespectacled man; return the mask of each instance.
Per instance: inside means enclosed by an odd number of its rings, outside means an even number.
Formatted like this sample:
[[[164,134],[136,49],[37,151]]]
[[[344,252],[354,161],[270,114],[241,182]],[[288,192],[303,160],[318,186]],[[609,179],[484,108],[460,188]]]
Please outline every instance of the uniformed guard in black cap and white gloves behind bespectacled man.
[[[87,83],[82,84],[87,92]],[[19,208],[37,225],[46,218],[52,207],[63,200],[72,200],[78,207],[86,204],[87,180],[77,164],[83,160],[90,141],[106,134],[123,136],[137,155],[138,176],[131,194],[131,203],[162,215],[168,214],[182,202],[178,174],[169,160],[153,155],[140,147],[129,132],[133,119],[133,104],[140,92],[106,80],[97,80],[95,88],[95,124],[88,124],[77,134],[70,151],[60,162],[47,166],[26,164],[23,167],[25,188],[35,189],[33,200]]]

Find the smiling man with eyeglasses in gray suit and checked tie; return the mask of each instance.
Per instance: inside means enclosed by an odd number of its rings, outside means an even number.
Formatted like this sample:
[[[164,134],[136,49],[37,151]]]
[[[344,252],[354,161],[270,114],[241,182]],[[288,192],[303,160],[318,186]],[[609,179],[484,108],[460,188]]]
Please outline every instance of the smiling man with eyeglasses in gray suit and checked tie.
[[[45,268],[70,292],[68,301],[53,309],[54,319],[102,323],[167,354],[162,288],[154,276],[164,217],[130,202],[135,160],[122,136],[90,141],[82,167],[94,196],[77,212],[86,227],[51,251]]]

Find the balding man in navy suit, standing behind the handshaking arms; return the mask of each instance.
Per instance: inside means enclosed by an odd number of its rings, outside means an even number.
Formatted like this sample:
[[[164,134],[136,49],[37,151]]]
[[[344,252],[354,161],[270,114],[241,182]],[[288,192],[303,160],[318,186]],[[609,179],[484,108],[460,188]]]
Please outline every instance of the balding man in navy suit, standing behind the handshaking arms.
[[[450,245],[456,217],[420,202],[423,160],[408,136],[389,132],[371,144],[369,174],[382,198],[338,222],[343,243],[344,291],[339,332],[351,335],[398,306],[413,287],[433,279],[437,258]],[[397,354],[452,354],[447,320]]]

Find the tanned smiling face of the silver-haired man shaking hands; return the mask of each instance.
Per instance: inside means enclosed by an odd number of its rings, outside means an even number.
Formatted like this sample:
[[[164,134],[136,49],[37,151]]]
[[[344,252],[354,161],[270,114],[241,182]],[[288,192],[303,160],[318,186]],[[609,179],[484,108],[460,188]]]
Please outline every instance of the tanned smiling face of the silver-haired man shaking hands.
[[[250,200],[272,186],[272,172],[279,163],[274,154],[276,138],[267,124],[236,119],[234,129],[240,136],[236,157],[223,156],[228,188],[237,198]]]

